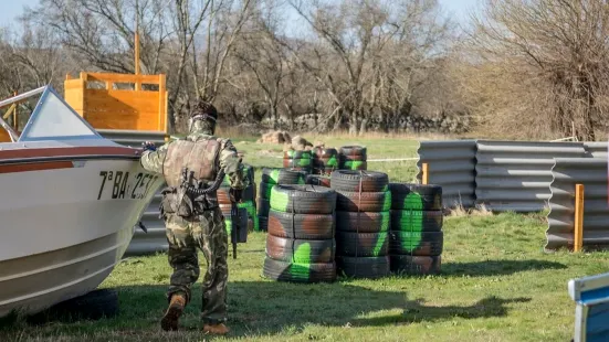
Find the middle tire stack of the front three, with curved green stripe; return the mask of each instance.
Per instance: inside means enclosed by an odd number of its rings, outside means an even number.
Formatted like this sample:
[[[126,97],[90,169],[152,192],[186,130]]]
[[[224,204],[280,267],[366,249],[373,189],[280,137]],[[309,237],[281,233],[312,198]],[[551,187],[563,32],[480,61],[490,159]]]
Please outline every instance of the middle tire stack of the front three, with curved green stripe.
[[[336,200],[337,271],[353,278],[380,278],[389,271],[389,178],[376,171],[332,173]]]

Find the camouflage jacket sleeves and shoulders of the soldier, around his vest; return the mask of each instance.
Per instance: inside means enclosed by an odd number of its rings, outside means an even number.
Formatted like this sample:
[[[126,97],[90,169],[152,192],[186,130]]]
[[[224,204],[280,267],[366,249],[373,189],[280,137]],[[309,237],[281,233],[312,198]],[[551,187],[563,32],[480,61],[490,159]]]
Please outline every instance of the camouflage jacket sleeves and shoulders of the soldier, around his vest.
[[[204,132],[192,132],[186,137],[187,140],[198,141],[201,139],[217,139],[214,136]],[[220,139],[220,156],[218,162],[220,168],[224,169],[225,174],[230,179],[230,186],[242,190],[248,184],[248,178],[243,174],[243,164],[239,162],[237,149],[230,139]],[[156,151],[146,150],[141,153],[140,163],[144,169],[150,172],[162,174],[167,150],[174,141],[167,142],[159,147]]]

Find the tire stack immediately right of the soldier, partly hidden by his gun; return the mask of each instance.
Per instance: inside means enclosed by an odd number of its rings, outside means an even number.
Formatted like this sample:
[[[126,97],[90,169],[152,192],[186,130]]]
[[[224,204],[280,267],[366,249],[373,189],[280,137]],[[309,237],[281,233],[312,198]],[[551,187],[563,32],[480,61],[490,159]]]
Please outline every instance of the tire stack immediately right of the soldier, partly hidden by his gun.
[[[238,203],[238,207],[244,207],[248,211],[248,231],[260,231],[259,220],[256,215],[256,203],[255,203],[255,180],[254,180],[254,168],[249,164],[243,164],[243,172],[245,178],[249,180],[249,185],[243,190],[241,203]],[[227,232],[230,234],[232,229],[231,222],[231,201],[230,201],[230,178],[227,174],[222,184],[217,191],[218,203],[220,204],[220,210],[224,215],[224,223],[227,225]]]

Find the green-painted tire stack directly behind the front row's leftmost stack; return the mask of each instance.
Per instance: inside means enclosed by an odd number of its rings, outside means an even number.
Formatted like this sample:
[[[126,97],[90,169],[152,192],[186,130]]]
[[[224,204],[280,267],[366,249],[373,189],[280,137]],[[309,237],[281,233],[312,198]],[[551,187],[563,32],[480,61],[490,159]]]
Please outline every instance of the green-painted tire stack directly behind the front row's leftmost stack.
[[[258,221],[260,231],[266,232],[271,195],[273,186],[277,184],[304,184],[306,173],[293,169],[263,168],[262,180],[258,191]]]

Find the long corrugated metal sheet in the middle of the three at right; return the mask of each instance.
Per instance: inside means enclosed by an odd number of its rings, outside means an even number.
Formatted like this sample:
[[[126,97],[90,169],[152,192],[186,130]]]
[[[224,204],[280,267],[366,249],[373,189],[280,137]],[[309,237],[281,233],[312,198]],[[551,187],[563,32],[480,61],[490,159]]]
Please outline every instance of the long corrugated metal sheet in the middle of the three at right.
[[[581,142],[477,140],[475,197],[494,212],[537,212],[550,197],[554,158],[585,158]]]

